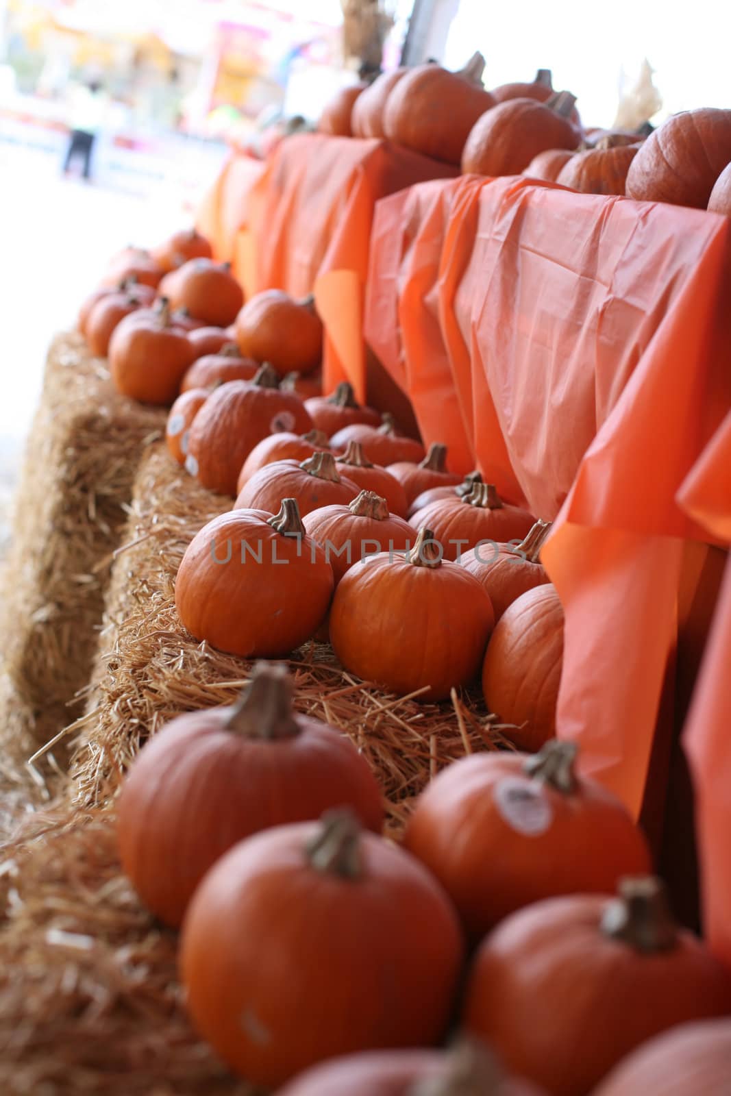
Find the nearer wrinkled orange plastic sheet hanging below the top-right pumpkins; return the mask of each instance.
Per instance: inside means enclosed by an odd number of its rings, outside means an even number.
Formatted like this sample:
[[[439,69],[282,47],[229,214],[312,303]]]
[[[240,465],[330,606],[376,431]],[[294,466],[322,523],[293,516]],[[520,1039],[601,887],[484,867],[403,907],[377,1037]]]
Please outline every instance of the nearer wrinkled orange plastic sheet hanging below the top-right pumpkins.
[[[465,178],[380,202],[374,239],[398,247],[374,247],[366,338],[407,388],[425,442],[445,432],[430,393],[452,384],[458,420],[454,400],[442,418],[483,473],[556,521],[544,559],[567,617],[559,733],[638,815],[682,538],[706,538],[675,494],[731,406],[720,308],[729,226],[697,210]],[[429,276],[413,262],[422,246],[441,249]],[[414,277],[424,311],[402,305]],[[400,342],[386,330],[395,315]],[[427,339],[426,369],[409,347]]]

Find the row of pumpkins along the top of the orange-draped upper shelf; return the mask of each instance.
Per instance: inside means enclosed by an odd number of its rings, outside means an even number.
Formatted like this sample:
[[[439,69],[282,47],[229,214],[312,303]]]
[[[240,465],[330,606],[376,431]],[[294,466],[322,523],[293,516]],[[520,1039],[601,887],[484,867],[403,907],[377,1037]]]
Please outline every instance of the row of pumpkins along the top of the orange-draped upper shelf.
[[[458,72],[434,64],[384,72],[339,91],[319,129],[387,138],[466,174],[523,174],[731,216],[730,110],[686,111],[654,132],[584,129],[575,98],[553,91],[548,69],[493,91],[482,84],[483,70],[476,54]]]

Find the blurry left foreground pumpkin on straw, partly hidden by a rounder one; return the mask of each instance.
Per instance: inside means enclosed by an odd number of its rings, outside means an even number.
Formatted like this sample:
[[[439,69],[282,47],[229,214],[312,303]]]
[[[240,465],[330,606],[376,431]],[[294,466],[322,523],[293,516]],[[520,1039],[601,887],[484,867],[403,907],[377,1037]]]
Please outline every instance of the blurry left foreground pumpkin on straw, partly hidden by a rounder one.
[[[237,842],[343,806],[380,833],[368,763],[341,731],[293,709],[284,665],[258,662],[235,705],[178,716],[135,758],[117,806],[122,866],[148,910],[178,926]]]

